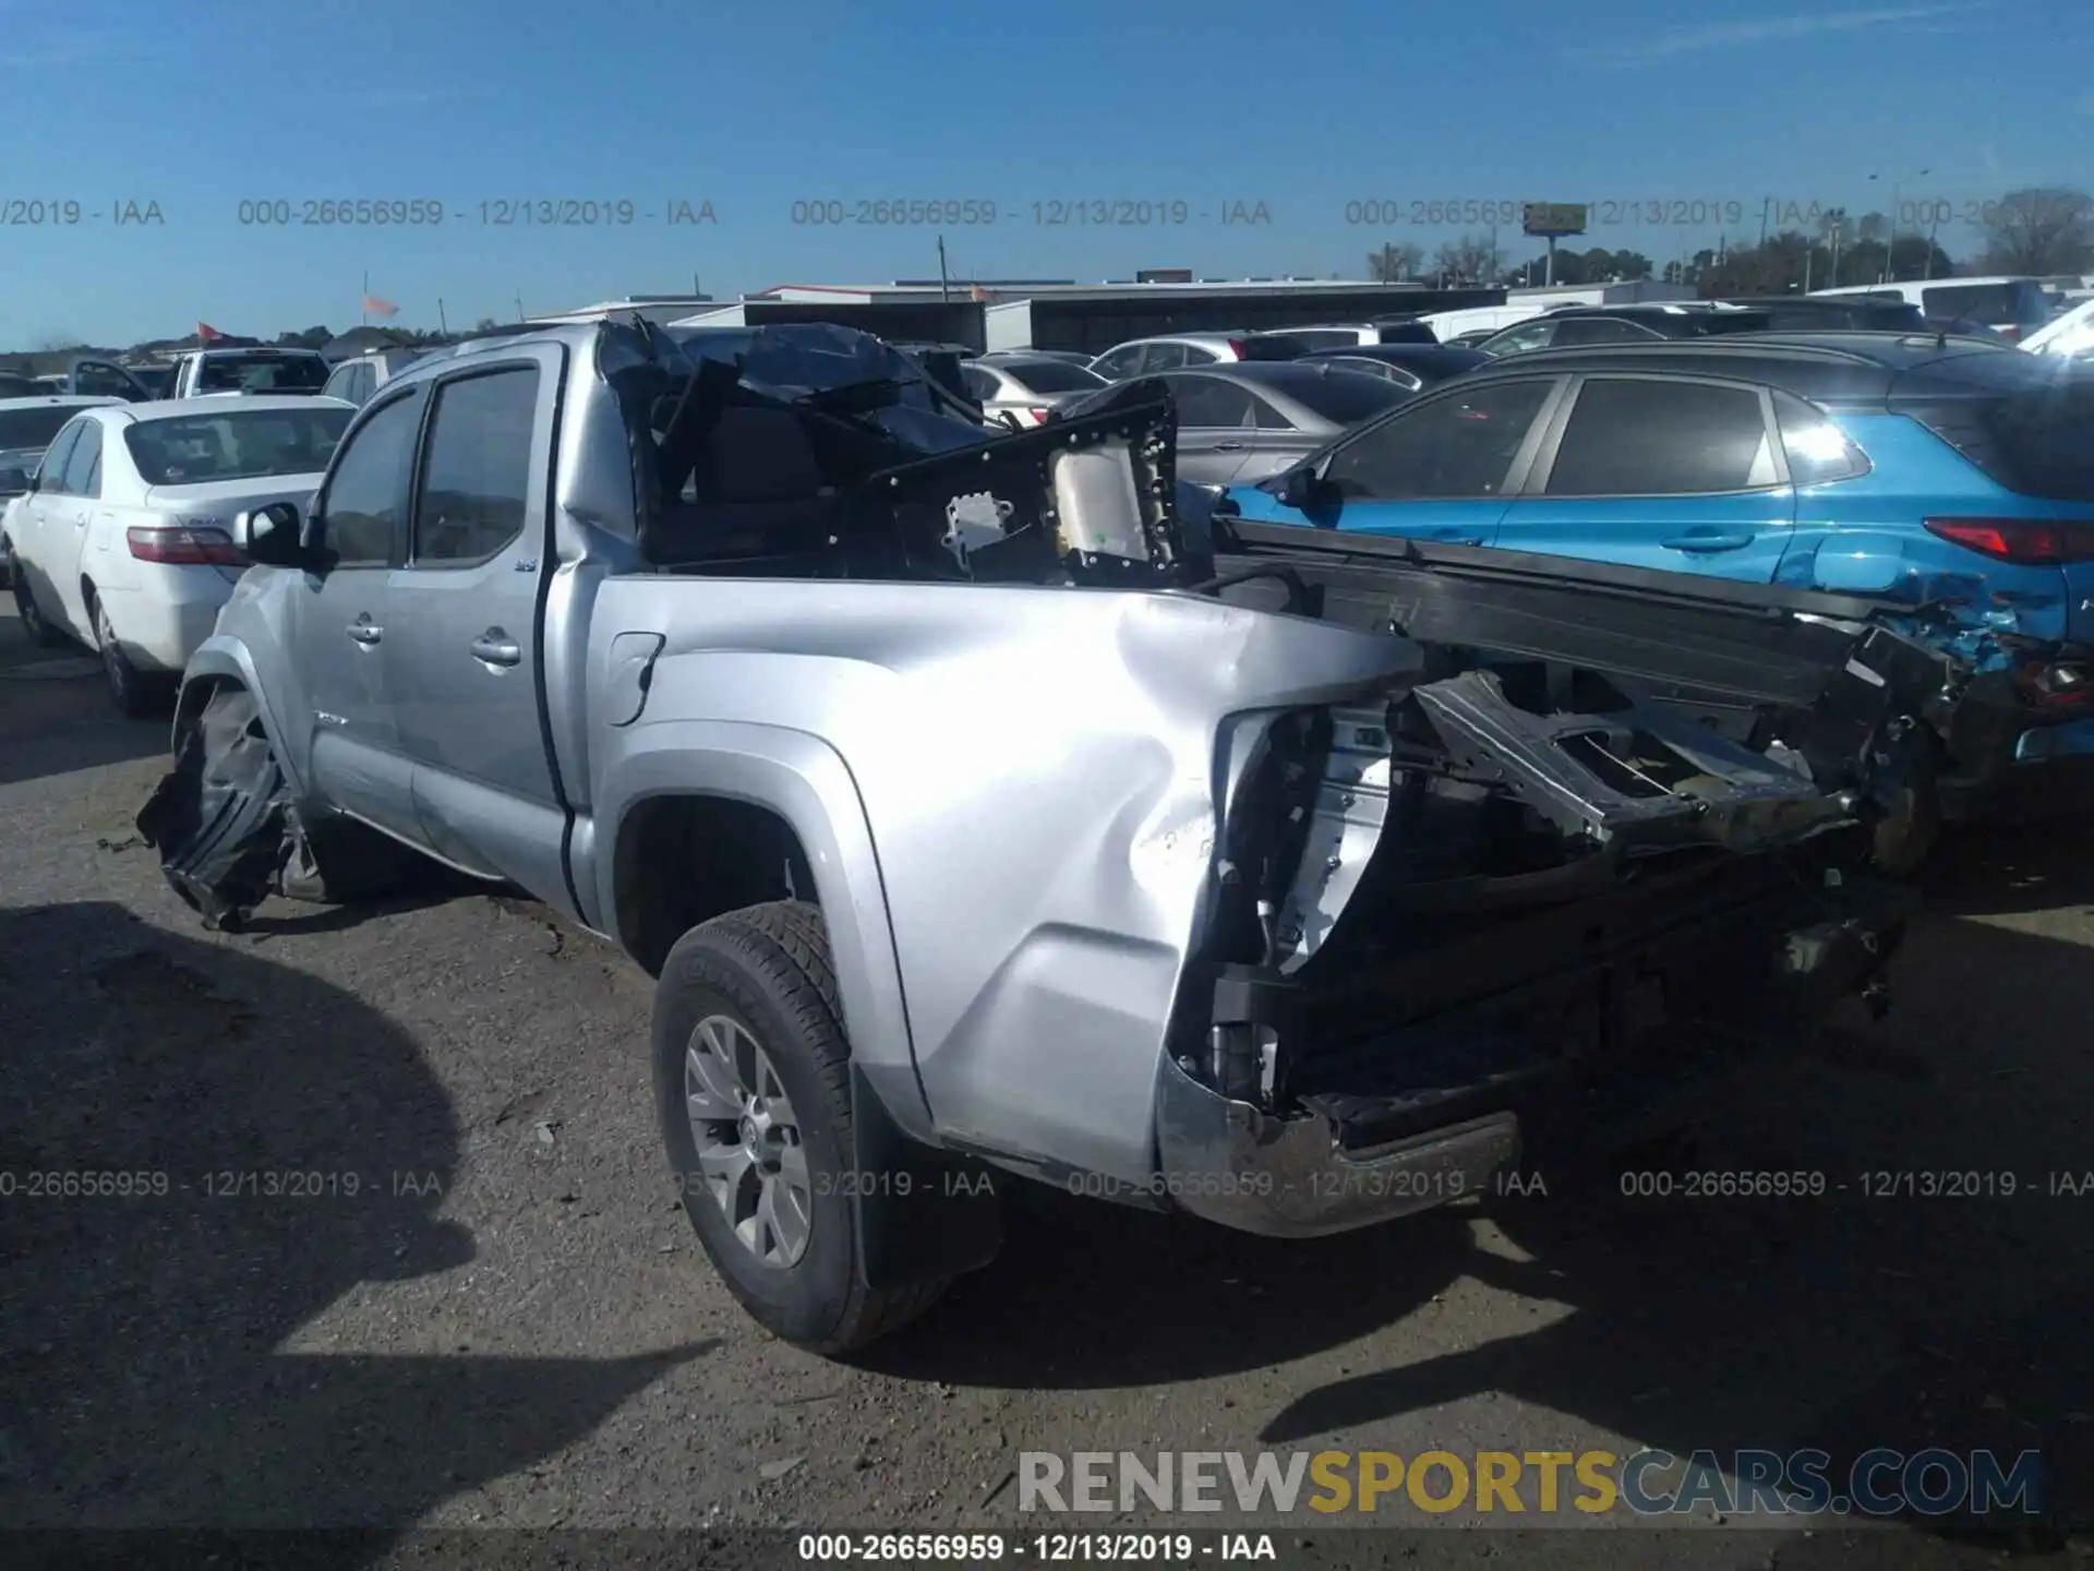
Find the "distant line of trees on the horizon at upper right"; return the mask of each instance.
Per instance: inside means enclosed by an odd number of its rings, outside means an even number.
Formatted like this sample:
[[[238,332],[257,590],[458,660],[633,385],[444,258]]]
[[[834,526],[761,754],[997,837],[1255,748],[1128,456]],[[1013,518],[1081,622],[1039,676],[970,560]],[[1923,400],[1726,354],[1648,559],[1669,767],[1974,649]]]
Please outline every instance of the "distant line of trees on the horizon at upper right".
[[[1818,216],[1815,233],[1788,228],[1744,243],[1725,237],[1715,247],[1663,264],[1642,251],[1558,245],[1554,279],[1566,285],[1661,279],[1690,285],[1705,300],[1715,300],[1956,274],[2044,279],[2094,272],[2094,197],[2086,191],[2008,191],[1983,212],[1981,243],[1962,260],[1941,247],[1933,228],[1918,233],[1895,226],[1887,214],[1855,216],[1832,207]],[[1367,253],[1367,276],[1376,283],[1535,287],[1547,274],[1545,251],[1514,260],[1489,235],[1462,235],[1441,245],[1430,260],[1418,245],[1390,243]]]

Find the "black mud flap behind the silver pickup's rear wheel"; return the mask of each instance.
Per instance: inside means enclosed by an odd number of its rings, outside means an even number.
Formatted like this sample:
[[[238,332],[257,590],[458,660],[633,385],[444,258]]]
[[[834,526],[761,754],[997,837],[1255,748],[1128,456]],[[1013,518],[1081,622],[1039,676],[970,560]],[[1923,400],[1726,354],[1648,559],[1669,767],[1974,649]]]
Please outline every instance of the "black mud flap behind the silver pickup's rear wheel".
[[[869,1288],[942,1282],[988,1265],[1003,1244],[1003,1207],[984,1163],[909,1139],[879,1093],[850,1068],[859,1271]]]

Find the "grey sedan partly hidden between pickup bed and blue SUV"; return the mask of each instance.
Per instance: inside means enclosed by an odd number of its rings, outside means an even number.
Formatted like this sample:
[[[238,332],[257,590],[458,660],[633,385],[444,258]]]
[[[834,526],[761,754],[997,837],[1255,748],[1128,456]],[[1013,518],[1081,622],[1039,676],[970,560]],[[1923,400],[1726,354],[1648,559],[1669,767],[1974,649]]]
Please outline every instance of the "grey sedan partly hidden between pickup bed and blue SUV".
[[[1177,473],[1202,486],[1279,473],[1351,425],[1401,404],[1386,377],[1305,360],[1246,360],[1166,371],[1177,402]]]

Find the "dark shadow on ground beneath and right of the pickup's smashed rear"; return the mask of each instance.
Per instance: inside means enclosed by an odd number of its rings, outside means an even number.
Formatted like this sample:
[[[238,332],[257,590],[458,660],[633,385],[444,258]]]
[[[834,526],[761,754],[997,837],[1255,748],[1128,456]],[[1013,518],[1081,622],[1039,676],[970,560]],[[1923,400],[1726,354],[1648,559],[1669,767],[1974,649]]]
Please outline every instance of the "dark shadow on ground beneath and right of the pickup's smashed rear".
[[[1960,894],[1943,901],[2002,903],[1947,873]],[[2046,882],[2050,907],[2088,888],[2094,850],[2052,838]],[[1349,1347],[1219,1443],[1405,1450],[1403,1433],[1416,1450],[1418,1416],[1497,1393],[1675,1456],[1822,1447],[1834,1483],[1878,1445],[2037,1450],[2054,1535],[2094,1519],[2090,1018],[2086,947],[1935,913],[1899,957],[1893,1016],[1853,1033],[1883,1039],[1893,1068],[1855,1072],[1841,1054],[1746,1079],[1692,1154],[1644,1183],[1669,1194],[1625,1196],[1642,1181],[1617,1171],[1307,1244],[1049,1196],[1016,1211],[1003,1257],[886,1368],[1099,1389],[1282,1366],[1286,1385],[1286,1362],[1409,1318],[1405,1343],[1460,1351],[1390,1364],[1386,1347]],[[1824,1194],[1688,1192],[1692,1173],[1723,1171],[1822,1173]],[[2023,1519],[1929,1527],[1991,1542],[2002,1523]]]

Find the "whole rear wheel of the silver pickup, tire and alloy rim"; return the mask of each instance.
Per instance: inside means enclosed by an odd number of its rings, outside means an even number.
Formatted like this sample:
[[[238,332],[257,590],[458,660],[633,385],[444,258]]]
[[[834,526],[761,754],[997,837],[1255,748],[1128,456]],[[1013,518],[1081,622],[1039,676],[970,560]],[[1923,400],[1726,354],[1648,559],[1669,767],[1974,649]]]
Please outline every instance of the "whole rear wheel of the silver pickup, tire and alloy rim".
[[[863,1347],[946,1282],[865,1284],[850,1043],[821,911],[773,901],[691,928],[655,987],[655,1106],[676,1190],[727,1288],[817,1353]]]

